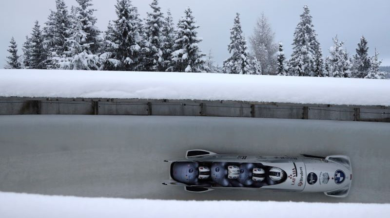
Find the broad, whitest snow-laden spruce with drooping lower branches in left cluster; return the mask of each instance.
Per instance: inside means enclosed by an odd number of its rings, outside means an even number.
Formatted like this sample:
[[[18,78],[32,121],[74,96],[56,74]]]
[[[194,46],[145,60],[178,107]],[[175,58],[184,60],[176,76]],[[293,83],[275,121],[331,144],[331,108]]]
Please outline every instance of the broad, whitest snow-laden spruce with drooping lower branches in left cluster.
[[[84,32],[84,18],[80,16],[81,9],[72,7],[72,15],[70,17],[71,28],[68,29],[68,38],[65,38],[66,51],[63,55],[53,57],[55,66],[63,70],[99,70],[98,55],[94,55],[91,51],[91,45],[94,42],[89,42],[89,34]]]

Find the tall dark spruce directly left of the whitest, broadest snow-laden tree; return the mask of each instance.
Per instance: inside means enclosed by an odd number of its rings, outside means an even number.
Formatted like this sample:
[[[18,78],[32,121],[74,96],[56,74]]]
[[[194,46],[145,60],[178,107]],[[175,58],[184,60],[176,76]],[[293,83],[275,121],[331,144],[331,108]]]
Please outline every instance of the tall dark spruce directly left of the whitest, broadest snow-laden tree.
[[[70,28],[69,13],[64,0],[56,0],[56,11],[51,11],[43,28],[44,47],[48,53],[47,68],[55,68],[52,58],[65,50],[65,38]]]

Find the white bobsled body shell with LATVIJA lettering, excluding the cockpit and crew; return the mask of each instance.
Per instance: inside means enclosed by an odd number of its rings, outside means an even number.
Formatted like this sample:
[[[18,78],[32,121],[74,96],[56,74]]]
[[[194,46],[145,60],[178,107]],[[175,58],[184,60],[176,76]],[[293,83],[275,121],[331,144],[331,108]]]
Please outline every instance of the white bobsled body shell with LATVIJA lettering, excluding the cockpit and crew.
[[[288,192],[324,192],[331,197],[346,197],[352,181],[352,171],[349,158],[343,155],[327,158],[288,157],[288,156],[246,156],[224,155],[210,152],[209,155],[186,157],[185,159],[166,161],[171,163],[170,181],[163,184],[203,187],[214,189],[270,189]],[[283,182],[266,184],[261,187],[221,187],[214,183],[188,184],[175,180],[172,166],[177,162],[202,163],[229,163],[229,164],[261,164],[265,167],[278,167],[286,173]],[[269,179],[268,179],[269,180]],[[272,181],[271,181],[272,182]]]

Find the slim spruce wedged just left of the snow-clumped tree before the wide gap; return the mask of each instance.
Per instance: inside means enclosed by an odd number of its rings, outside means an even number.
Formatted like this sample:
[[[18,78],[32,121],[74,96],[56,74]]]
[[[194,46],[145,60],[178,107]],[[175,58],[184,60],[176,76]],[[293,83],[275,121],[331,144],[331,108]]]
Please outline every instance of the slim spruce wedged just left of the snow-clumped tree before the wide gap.
[[[168,10],[167,16],[164,21],[164,28],[162,29],[163,42],[162,42],[162,59],[164,60],[162,71],[165,72],[171,65],[173,47],[175,44],[175,28],[171,11]]]

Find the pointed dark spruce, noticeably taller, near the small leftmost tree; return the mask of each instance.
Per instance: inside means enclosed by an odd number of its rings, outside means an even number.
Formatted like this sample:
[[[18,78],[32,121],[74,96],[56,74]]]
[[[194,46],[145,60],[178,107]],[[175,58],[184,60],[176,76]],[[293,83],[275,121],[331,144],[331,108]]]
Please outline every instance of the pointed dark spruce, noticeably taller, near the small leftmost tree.
[[[46,51],[43,47],[43,37],[38,20],[35,21],[33,33],[31,34],[29,65],[30,69],[46,69]]]

